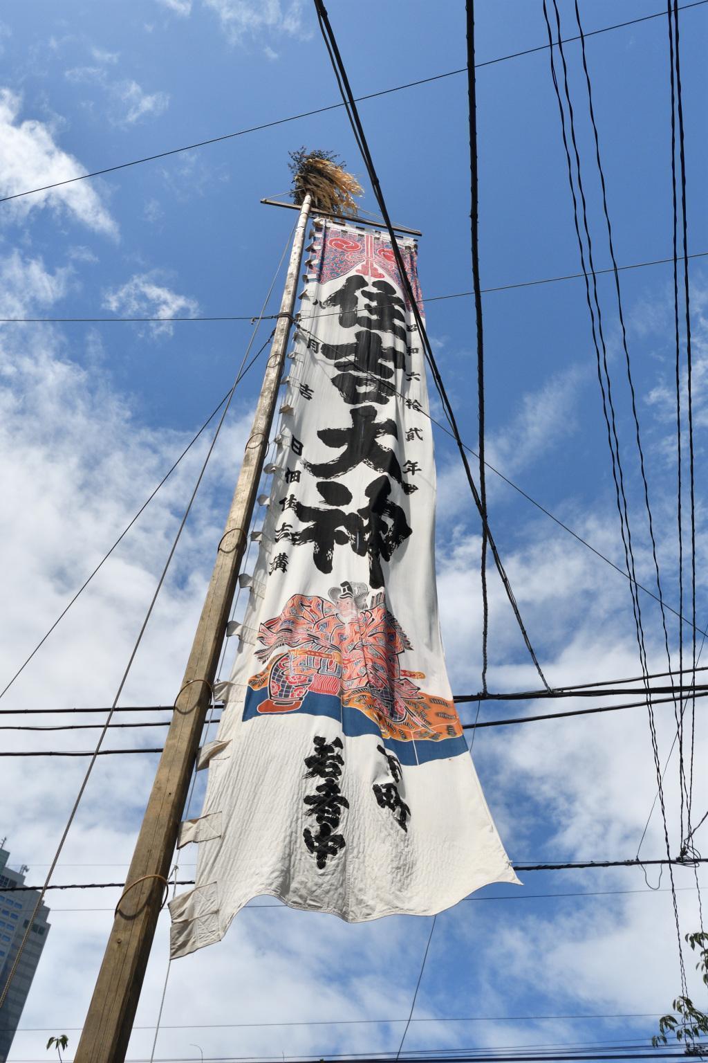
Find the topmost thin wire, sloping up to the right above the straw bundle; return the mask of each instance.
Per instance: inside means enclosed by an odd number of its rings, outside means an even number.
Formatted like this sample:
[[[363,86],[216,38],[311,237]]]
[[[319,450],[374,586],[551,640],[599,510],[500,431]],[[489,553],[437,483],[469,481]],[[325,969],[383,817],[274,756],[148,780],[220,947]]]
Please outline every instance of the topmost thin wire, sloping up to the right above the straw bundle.
[[[693,0],[692,3],[681,4],[679,11],[688,11],[690,7],[701,7],[705,3],[708,3],[708,0]],[[657,12],[656,14],[644,15],[641,18],[633,18],[625,22],[616,22],[612,26],[604,26],[599,30],[592,30],[590,33],[586,33],[586,37],[598,36],[601,33],[608,33],[610,30],[621,30],[627,26],[636,26],[639,22],[649,22],[654,18],[660,18],[663,14],[664,12]],[[577,39],[577,37],[568,37],[567,43]],[[532,55],[535,52],[546,51],[548,47],[548,45],[537,45],[534,48],[525,48],[519,52],[511,52],[507,55],[499,55],[494,60],[486,60],[483,63],[478,63],[477,66],[478,68],[494,66],[498,63],[504,63],[507,60],[520,58],[522,55]],[[435,81],[443,81],[446,78],[453,78],[456,74],[466,73],[466,67],[460,67],[456,70],[447,70],[444,73],[436,73],[430,78],[420,78],[417,81],[409,81],[403,85],[394,85],[393,88],[384,88],[378,92],[368,92],[366,96],[358,96],[356,98],[356,102],[361,103],[363,100],[374,100],[381,96],[390,96],[393,92],[400,92],[407,88],[415,88],[418,85],[428,85]],[[144,155],[141,158],[131,159],[128,163],[119,163],[117,166],[106,166],[101,170],[93,170],[90,173],[80,173],[75,178],[67,178],[64,181],[55,181],[52,184],[41,185],[38,188],[28,188],[21,192],[14,192],[12,196],[4,196],[0,198],[0,203],[6,203],[8,200],[20,199],[23,196],[34,196],[37,192],[46,192],[52,188],[59,188],[63,185],[73,184],[76,181],[86,181],[89,178],[100,178],[105,173],[115,173],[117,170],[125,170],[133,166],[140,166],[142,163],[152,163],[158,158],[167,158],[169,155],[178,155],[183,151],[193,151],[196,148],[205,148],[208,145],[219,144],[222,140],[232,140],[235,137],[246,136],[249,133],[259,133],[262,130],[273,129],[276,125],[284,125],[288,122],[299,121],[303,118],[311,118],[314,115],[322,115],[328,111],[339,111],[343,106],[345,106],[344,103],[331,103],[326,107],[315,107],[313,111],[304,111],[297,115],[289,115],[287,118],[276,118],[274,121],[263,122],[260,125],[252,125],[243,130],[237,130],[235,133],[224,133],[221,136],[209,137],[206,140],[197,140],[194,144],[184,145],[182,148],[171,148],[169,151],[160,151],[154,155]]]

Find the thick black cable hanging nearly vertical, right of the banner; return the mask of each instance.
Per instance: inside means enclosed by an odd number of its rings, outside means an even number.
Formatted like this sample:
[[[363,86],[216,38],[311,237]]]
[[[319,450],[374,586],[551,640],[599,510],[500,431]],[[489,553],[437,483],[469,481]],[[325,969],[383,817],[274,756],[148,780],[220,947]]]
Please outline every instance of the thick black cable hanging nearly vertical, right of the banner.
[[[469,173],[470,173],[470,244],[472,255],[472,287],[477,325],[477,408],[478,451],[480,470],[480,502],[482,504],[482,553],[480,580],[482,585],[482,690],[487,689],[487,643],[489,638],[489,601],[487,596],[487,487],[484,467],[484,327],[482,322],[482,284],[480,281],[480,180],[477,157],[477,84],[474,77],[474,0],[465,4],[467,16],[467,97],[469,105]],[[401,1042],[402,1044],[402,1042]]]

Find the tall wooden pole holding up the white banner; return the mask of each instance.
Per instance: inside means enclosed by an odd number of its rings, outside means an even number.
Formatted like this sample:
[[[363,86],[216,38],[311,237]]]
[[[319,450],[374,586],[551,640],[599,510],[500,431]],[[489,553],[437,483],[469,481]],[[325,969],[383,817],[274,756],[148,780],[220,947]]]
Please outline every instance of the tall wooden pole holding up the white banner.
[[[122,1063],[125,1059],[267,452],[310,202],[306,196],[253,431],[75,1063]]]

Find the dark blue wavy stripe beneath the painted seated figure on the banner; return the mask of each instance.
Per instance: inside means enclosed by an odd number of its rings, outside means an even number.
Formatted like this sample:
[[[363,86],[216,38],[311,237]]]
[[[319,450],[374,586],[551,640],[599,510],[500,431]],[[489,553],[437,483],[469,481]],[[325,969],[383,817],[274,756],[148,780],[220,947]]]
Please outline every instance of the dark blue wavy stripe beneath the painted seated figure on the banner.
[[[312,716],[329,716],[342,723],[342,729],[347,738],[358,738],[360,735],[375,735],[381,738],[381,731],[374,721],[350,706],[343,706],[339,697],[331,694],[307,693],[299,709],[290,709],[283,712],[259,712],[258,706],[267,697],[267,688],[254,690],[248,687],[243,706],[244,720],[267,720],[269,716],[293,716],[305,712]],[[449,757],[457,757],[462,753],[467,753],[467,743],[464,738],[444,738],[439,741],[430,739],[416,739],[415,744],[401,742],[399,739],[381,739],[385,742],[388,753],[394,753],[401,764],[425,764],[429,760],[446,760]]]

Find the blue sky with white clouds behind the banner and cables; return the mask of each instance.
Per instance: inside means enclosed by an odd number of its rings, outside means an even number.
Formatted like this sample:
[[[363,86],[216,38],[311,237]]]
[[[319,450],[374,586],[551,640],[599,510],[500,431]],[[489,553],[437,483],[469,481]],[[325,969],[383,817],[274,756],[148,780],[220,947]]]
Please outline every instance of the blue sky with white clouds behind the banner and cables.
[[[620,5],[585,0],[584,28],[653,14],[660,6],[650,0]],[[572,4],[563,0],[560,10],[566,35],[573,35]],[[352,5],[332,3],[330,17],[357,95],[464,66],[462,3],[433,7],[364,0],[356,17]],[[49,180],[57,180],[101,169],[338,101],[313,11],[306,4],[67,0],[59,9],[49,0],[13,0],[1,18],[2,195],[45,184],[48,172]],[[480,62],[546,40],[540,0],[479,3],[477,19]],[[681,13],[691,252],[708,251],[702,73],[707,31],[708,7]],[[591,37],[587,51],[618,261],[666,258],[672,239],[666,20]],[[609,258],[579,46],[569,45],[567,53],[595,264],[604,268]],[[548,52],[480,69],[478,112],[483,287],[577,272]],[[392,217],[424,232],[424,293],[468,290],[464,75],[364,102],[361,114]],[[261,206],[259,200],[287,191],[288,152],[300,145],[340,152],[366,186],[345,115],[335,109],[61,192],[0,204],[0,316],[256,315],[293,223],[289,213]],[[374,210],[368,189],[362,205]],[[691,281],[700,469],[708,423],[708,286],[701,259],[691,264]],[[649,585],[651,555],[617,305],[611,277],[603,276],[599,284],[639,573]],[[667,597],[675,603],[671,267],[623,272],[621,284],[659,559]],[[433,302],[427,317],[461,429],[473,444],[472,302]],[[621,564],[582,281],[490,292],[484,297],[484,324],[489,460]],[[7,585],[0,662],[8,677],[230,386],[251,325],[0,327],[0,468],[7,500],[0,518]],[[176,691],[258,385],[255,370],[239,391],[126,688],[132,704],[167,704]],[[438,434],[436,446],[443,629],[453,689],[468,692],[480,681],[479,525],[449,440]],[[6,707],[36,707],[38,698],[47,706],[109,704],[203,455],[204,449],[196,448],[180,466],[8,692]],[[490,524],[551,681],[638,674],[626,580],[494,475],[488,490]],[[708,619],[708,601],[700,474],[696,492],[701,623],[702,615]],[[651,662],[662,671],[660,618],[649,600],[644,620]],[[670,634],[675,646],[675,624]],[[496,581],[490,661],[494,688],[535,686]],[[543,711],[542,704],[533,710]],[[487,719],[516,711],[504,703],[482,710]],[[671,709],[657,708],[657,719],[663,760],[673,738]],[[706,736],[700,712],[697,721],[701,764]],[[163,730],[143,729],[129,740],[124,733],[111,742],[150,747],[159,744]],[[90,748],[94,735],[13,736],[6,741],[17,748],[39,743]],[[622,859],[637,851],[656,789],[641,709],[483,730],[473,754],[515,861]],[[6,763],[3,790],[14,796],[5,804],[3,833],[10,836],[13,860],[28,863],[37,881],[84,765]],[[118,881],[124,875],[153,769],[152,757],[102,759],[57,877]],[[708,794],[697,770],[696,775],[700,817]],[[667,799],[672,843],[677,845],[674,776],[672,761]],[[655,815],[642,854],[658,857],[661,847]],[[183,861],[188,877],[193,857],[187,851]],[[650,876],[653,884],[656,878]],[[697,929],[695,893],[687,889],[692,874],[680,870],[676,882],[681,928]],[[660,885],[666,888],[666,875]],[[525,896],[617,890],[643,892]],[[494,887],[479,896],[508,893],[513,891]],[[49,1034],[64,1030],[75,1047],[75,1028],[83,1020],[116,899],[108,890],[52,898],[53,928],[25,1009],[27,1031],[15,1041],[13,1060],[41,1058]],[[404,1017],[428,932],[426,919],[346,927],[329,916],[286,909],[244,911],[222,944],[172,965],[165,1026]],[[655,1029],[652,1018],[491,1019],[662,1012],[679,989],[672,933],[670,894],[647,891],[639,871],[530,874],[515,899],[473,899],[438,918],[415,1013],[430,1022],[414,1023],[405,1046],[481,1048],[646,1037]],[[138,1026],[156,1022],[166,968],[163,917]],[[477,1020],[450,1024],[443,1022],[446,1017]],[[166,1028],[156,1058],[196,1058],[195,1049],[186,1047],[192,1041],[205,1056],[312,1052],[320,1058],[395,1050],[401,1030],[377,1022]],[[152,1040],[150,1029],[136,1029],[129,1057],[149,1057]]]

